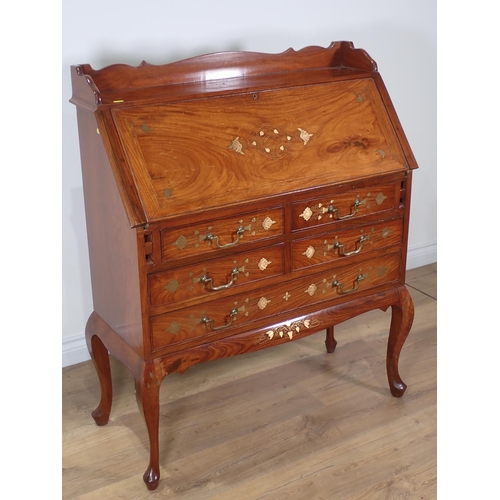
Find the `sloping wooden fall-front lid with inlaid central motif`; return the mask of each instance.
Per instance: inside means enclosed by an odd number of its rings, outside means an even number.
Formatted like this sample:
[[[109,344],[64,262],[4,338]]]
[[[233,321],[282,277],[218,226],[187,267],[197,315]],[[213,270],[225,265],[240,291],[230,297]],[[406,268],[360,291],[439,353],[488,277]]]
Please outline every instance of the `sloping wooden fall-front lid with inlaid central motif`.
[[[112,114],[150,220],[408,168],[370,79]]]

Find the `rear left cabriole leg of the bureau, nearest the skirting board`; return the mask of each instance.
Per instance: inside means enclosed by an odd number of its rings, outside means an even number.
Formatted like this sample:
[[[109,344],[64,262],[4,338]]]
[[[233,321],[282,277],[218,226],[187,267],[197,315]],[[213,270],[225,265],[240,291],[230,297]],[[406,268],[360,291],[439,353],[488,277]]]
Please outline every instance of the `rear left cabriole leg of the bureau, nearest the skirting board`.
[[[87,323],[85,337],[101,386],[101,401],[99,402],[99,406],[92,412],[92,417],[97,425],[106,425],[109,421],[113,399],[111,368],[108,350],[102,340],[92,331],[91,320],[92,318]]]

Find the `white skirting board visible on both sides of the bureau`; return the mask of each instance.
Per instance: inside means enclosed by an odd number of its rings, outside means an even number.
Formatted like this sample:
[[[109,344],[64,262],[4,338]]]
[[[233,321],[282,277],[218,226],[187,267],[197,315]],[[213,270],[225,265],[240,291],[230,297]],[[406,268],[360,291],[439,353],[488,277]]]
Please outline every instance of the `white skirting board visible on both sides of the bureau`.
[[[419,245],[408,249],[406,261],[407,269],[427,266],[437,262],[437,242]],[[63,339],[62,342],[62,367],[76,365],[90,359],[85,335],[74,335]]]

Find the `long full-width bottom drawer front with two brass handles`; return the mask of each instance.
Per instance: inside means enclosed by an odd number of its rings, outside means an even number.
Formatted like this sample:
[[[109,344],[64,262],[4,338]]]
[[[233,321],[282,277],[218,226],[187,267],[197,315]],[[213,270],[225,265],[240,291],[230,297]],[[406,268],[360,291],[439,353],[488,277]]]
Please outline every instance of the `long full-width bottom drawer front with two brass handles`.
[[[399,279],[400,254],[339,267],[288,283],[198,304],[151,319],[154,349],[200,344],[237,333],[249,323],[345,296],[355,298]]]

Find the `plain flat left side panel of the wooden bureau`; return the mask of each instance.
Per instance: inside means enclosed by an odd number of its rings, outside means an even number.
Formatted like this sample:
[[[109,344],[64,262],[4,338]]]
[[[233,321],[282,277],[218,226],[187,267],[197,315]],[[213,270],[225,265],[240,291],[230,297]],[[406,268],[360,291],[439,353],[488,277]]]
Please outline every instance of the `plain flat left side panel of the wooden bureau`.
[[[130,228],[93,113],[77,113],[94,310],[142,357],[142,230]]]

